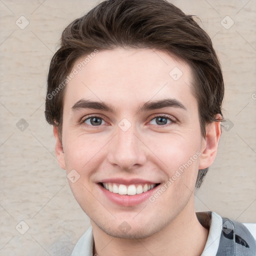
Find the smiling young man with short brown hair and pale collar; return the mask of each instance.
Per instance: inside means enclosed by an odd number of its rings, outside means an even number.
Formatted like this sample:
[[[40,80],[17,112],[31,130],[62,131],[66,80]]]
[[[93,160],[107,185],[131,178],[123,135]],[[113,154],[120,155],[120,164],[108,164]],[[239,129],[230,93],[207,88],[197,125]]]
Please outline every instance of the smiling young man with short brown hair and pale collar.
[[[220,137],[208,35],[165,0],[106,0],[62,33],[45,116],[91,227],[72,255],[256,255],[241,224],[195,212]]]

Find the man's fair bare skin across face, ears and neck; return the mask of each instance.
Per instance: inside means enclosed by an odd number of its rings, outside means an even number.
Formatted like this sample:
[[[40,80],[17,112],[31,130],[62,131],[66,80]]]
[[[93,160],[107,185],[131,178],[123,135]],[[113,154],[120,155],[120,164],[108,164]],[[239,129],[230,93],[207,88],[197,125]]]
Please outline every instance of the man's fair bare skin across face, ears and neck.
[[[176,81],[169,75],[173,67],[183,73]],[[215,158],[220,122],[209,123],[205,138],[201,136],[192,81],[189,65],[167,53],[115,48],[99,51],[66,85],[62,141],[53,127],[55,152],[67,173],[75,169],[80,175],[69,184],[91,220],[94,253],[99,256],[201,254],[208,230],[195,215],[194,186],[198,169],[210,166]],[[163,107],[136,113],[144,102],[166,97],[178,100],[186,110]],[[103,101],[116,112],[72,110],[82,98]],[[157,124],[154,117],[161,114],[173,122]],[[88,115],[101,117],[102,123],[79,122]],[[127,131],[118,126],[122,118],[131,124]],[[164,184],[197,151],[200,157],[154,202],[120,206],[109,201],[96,184],[109,177]],[[118,228],[123,221],[131,227],[128,232]]]

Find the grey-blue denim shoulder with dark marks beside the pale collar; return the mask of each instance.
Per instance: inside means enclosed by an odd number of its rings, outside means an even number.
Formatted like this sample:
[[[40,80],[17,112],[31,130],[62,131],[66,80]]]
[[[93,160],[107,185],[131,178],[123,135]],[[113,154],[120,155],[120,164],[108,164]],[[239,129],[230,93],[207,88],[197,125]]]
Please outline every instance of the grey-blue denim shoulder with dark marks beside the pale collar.
[[[240,222],[222,217],[222,231],[216,256],[255,256],[256,241]]]

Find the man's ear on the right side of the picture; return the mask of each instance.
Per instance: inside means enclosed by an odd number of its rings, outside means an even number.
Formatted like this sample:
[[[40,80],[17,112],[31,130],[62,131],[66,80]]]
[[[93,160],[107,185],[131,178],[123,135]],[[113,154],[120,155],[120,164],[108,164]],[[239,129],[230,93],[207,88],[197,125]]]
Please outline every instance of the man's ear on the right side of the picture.
[[[219,121],[210,122],[205,127],[206,136],[202,138],[199,169],[209,167],[213,163],[217,153],[218,141],[221,134],[221,115],[217,114],[215,118],[219,119]]]

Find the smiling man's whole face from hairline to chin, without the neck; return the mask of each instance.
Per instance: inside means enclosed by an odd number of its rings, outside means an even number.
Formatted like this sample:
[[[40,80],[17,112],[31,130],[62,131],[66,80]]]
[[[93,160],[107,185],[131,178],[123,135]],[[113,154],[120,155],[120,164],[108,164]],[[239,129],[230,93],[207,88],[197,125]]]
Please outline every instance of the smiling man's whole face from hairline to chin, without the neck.
[[[58,159],[79,177],[70,187],[93,225],[142,238],[189,215],[204,139],[188,64],[149,49],[99,51],[66,86]]]

